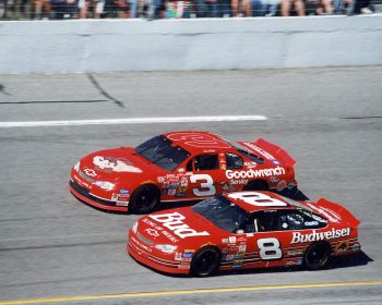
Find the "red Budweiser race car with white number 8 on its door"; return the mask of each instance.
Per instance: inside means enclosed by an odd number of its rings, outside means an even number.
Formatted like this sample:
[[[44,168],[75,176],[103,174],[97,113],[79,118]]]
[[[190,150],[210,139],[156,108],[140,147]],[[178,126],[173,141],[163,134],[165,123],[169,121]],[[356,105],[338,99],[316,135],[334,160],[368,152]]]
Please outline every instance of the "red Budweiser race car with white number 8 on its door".
[[[338,204],[295,202],[271,192],[235,192],[193,207],[139,219],[127,248],[138,261],[169,273],[305,265],[360,251],[359,220]]]

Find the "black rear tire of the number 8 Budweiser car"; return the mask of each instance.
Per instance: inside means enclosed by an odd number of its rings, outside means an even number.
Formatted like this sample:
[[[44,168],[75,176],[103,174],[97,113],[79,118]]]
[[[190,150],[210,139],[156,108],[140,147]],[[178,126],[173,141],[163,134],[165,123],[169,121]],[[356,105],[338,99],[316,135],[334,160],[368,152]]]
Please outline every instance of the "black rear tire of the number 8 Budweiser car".
[[[308,270],[324,269],[331,258],[331,246],[327,243],[315,243],[308,247],[303,261]]]

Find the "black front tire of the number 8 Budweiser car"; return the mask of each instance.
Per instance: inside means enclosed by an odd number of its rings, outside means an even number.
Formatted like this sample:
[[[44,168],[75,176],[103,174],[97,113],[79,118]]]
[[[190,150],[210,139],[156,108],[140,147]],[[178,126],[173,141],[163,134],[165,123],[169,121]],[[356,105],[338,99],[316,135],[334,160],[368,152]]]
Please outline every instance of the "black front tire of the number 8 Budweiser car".
[[[215,273],[220,264],[220,253],[217,248],[206,246],[201,248],[191,261],[191,273],[204,278]]]

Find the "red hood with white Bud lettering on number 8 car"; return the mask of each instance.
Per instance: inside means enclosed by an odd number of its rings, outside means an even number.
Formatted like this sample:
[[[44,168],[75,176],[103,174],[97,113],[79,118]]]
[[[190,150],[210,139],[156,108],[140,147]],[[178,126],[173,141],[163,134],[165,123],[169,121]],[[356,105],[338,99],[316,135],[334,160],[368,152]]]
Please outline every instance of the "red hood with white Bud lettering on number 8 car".
[[[136,225],[139,237],[147,244],[196,247],[220,233],[220,229],[193,212],[191,207],[151,213],[141,218]]]

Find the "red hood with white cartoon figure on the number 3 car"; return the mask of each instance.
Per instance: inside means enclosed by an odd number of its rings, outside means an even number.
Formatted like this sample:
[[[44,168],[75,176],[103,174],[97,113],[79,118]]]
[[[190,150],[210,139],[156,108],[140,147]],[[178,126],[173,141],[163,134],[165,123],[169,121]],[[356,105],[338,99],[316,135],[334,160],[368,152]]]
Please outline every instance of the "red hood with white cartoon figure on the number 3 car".
[[[79,170],[94,180],[103,181],[128,178],[139,180],[144,173],[155,174],[160,171],[158,167],[135,154],[131,147],[95,151],[81,159]]]

